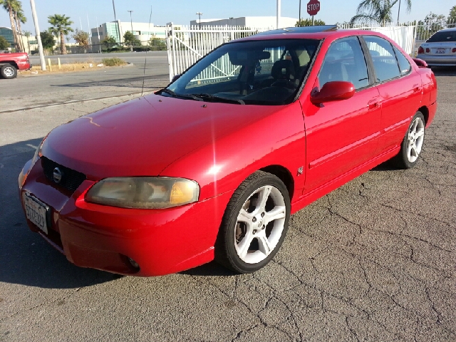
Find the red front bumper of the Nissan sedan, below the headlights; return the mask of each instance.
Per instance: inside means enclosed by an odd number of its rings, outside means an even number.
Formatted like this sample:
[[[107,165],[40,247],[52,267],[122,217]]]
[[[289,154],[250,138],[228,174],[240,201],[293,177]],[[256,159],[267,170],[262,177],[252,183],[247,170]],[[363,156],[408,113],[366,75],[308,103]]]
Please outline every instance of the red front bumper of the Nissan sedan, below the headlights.
[[[171,209],[124,209],[86,202],[93,184],[85,180],[68,195],[50,184],[38,160],[20,189],[20,195],[28,192],[50,207],[48,234],[27,220],[30,229],[76,266],[160,276],[214,259],[215,240],[232,192]]]

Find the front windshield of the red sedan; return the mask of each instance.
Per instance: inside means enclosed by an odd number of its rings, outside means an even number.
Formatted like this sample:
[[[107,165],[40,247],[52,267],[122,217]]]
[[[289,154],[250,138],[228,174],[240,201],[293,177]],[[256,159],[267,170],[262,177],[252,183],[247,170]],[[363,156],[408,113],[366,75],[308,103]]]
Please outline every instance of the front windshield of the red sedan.
[[[319,43],[316,39],[227,43],[157,93],[246,105],[291,103],[306,77]]]

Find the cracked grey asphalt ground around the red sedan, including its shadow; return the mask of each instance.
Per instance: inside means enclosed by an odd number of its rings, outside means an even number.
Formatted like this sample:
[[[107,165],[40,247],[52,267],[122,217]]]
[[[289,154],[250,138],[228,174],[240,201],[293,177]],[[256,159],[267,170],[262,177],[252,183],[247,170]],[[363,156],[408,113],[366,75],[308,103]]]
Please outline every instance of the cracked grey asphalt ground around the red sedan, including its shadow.
[[[297,212],[275,259],[240,276],[214,263],[155,278],[70,264],[26,227],[17,175],[48,130],[137,95],[29,110],[10,101],[18,109],[0,113],[0,341],[456,341],[456,70],[436,75],[418,165],[385,163]]]

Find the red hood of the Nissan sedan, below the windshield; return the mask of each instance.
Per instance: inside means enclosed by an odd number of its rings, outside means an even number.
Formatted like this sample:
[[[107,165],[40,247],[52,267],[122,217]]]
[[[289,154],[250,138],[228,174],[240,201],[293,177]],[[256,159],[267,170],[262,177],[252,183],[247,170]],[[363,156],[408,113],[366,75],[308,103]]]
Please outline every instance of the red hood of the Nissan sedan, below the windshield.
[[[91,180],[160,175],[183,155],[280,107],[152,94],[59,126],[43,142],[42,153]]]

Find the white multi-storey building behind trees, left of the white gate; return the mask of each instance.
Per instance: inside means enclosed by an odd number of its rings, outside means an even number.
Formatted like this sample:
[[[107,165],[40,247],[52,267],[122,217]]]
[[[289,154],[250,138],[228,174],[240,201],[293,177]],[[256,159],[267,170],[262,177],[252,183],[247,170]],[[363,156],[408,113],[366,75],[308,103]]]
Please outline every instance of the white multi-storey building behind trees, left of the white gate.
[[[147,41],[152,36],[165,40],[165,26],[154,26],[149,23],[131,23],[130,21],[110,21],[101,24],[96,28],[90,28],[90,38],[92,44],[99,44],[100,41],[112,36],[115,41],[123,43],[123,35],[127,31],[133,31],[136,39],[139,39],[142,45],[147,45]]]

